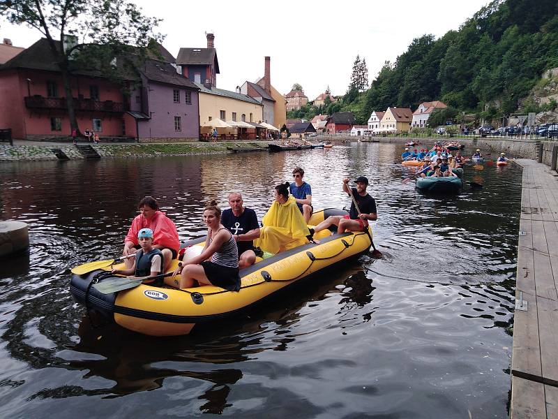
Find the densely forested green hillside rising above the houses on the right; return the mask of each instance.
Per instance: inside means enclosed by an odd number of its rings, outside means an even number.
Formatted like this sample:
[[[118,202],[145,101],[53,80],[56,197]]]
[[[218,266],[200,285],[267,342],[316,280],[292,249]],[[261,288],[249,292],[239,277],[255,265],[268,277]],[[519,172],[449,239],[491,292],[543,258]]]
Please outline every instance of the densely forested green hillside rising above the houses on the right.
[[[384,64],[370,89],[345,95],[342,110],[365,123],[372,110],[414,110],[423,101],[442,100],[479,118],[500,117],[527,106],[522,99],[554,67],[558,1],[496,0],[458,31],[415,38],[395,63]],[[536,103],[528,106],[539,110]]]

